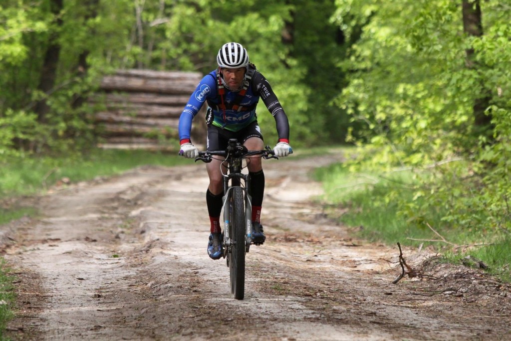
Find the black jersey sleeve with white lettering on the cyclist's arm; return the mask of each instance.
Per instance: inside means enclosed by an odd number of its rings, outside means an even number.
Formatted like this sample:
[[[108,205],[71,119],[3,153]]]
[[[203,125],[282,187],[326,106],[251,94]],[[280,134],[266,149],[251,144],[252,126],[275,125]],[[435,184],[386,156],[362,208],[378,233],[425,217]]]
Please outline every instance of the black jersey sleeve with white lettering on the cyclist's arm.
[[[255,92],[261,96],[266,108],[275,118],[278,139],[289,140],[289,120],[270,83],[259,71],[254,72],[252,81]]]

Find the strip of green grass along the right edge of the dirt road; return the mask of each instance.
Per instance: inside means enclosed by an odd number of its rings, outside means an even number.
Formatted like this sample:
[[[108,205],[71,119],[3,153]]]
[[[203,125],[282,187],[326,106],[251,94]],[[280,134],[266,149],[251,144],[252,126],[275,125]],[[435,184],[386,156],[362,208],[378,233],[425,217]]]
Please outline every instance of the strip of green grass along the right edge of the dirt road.
[[[431,245],[444,254],[446,261],[478,266],[470,260],[478,259],[488,266],[487,272],[511,281],[511,237],[495,230],[445,224],[441,207],[421,205],[420,198],[413,198],[411,174],[400,172],[399,176],[381,178],[353,174],[335,164],[317,169],[315,175],[323,183],[326,199],[334,210],[345,212],[339,220],[360,237],[389,245]],[[392,200],[389,193],[400,200]],[[409,205],[398,206],[398,202]]]

